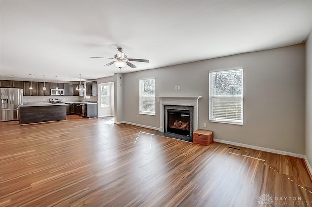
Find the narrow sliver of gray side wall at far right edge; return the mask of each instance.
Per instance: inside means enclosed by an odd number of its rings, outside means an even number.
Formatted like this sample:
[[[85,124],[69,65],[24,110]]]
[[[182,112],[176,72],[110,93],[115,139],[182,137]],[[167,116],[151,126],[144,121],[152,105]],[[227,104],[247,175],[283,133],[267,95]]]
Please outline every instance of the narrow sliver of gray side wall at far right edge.
[[[312,166],[312,31],[306,42],[306,142],[305,152]]]

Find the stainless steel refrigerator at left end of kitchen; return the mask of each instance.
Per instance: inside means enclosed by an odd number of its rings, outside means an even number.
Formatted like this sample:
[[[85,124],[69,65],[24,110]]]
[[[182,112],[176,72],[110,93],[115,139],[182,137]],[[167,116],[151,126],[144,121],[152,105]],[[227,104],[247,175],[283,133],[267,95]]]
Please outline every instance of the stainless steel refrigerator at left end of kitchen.
[[[23,89],[0,88],[0,121],[19,120],[19,106],[23,104]]]

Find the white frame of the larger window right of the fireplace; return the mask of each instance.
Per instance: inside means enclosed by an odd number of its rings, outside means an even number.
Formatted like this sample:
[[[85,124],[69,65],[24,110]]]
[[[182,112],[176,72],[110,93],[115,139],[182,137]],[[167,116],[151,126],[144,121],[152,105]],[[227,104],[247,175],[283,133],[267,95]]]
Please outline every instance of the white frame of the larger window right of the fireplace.
[[[241,70],[242,71],[242,88],[241,88],[241,95],[212,95],[212,81],[211,81],[211,74],[216,72],[226,72],[226,71],[234,71],[234,70]],[[233,120],[230,119],[223,119],[223,118],[215,118],[213,117],[213,103],[212,99],[214,97],[241,97],[241,120]],[[229,69],[219,69],[219,70],[210,70],[209,71],[209,115],[208,115],[209,122],[216,122],[216,123],[226,123],[226,124],[235,124],[235,125],[244,125],[244,70],[242,67],[237,68],[229,68]]]

